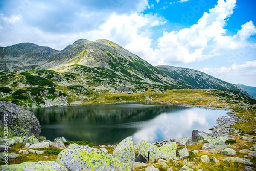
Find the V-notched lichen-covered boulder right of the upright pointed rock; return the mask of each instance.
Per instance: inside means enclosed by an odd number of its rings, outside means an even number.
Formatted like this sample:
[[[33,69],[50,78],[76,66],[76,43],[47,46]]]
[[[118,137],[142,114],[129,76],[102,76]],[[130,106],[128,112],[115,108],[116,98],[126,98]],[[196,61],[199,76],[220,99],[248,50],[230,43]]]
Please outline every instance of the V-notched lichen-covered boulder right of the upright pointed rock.
[[[151,143],[141,141],[138,155],[142,155],[149,162],[154,162],[156,159],[175,159],[176,158],[177,144],[173,142],[166,144],[161,147],[157,147]]]

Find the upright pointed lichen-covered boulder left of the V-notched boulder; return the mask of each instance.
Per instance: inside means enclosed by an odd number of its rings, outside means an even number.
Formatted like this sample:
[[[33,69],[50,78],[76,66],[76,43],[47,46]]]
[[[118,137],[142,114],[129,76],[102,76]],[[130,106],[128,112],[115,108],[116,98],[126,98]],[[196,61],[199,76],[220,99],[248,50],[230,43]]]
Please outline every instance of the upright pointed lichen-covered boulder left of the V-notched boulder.
[[[135,160],[134,142],[132,137],[127,137],[122,140],[113,152],[113,157],[119,159],[121,162],[129,163]]]

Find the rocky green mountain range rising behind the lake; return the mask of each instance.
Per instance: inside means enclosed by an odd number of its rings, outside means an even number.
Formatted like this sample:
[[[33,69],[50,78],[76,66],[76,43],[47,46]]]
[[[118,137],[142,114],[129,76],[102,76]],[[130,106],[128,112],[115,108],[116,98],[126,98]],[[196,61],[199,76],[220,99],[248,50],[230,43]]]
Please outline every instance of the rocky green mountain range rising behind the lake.
[[[172,66],[154,67],[105,39],[79,39],[61,51],[33,43],[0,47],[0,80],[3,89],[0,89],[0,98],[24,89],[26,92],[12,94],[12,97],[22,98],[36,93],[43,96],[43,92],[48,92],[50,97],[58,94],[70,96],[70,99],[79,98],[79,95],[73,93],[81,93],[86,99],[86,95],[95,92],[123,93],[185,88],[229,89],[250,96],[235,84],[197,70]],[[45,100],[43,98],[38,101]]]

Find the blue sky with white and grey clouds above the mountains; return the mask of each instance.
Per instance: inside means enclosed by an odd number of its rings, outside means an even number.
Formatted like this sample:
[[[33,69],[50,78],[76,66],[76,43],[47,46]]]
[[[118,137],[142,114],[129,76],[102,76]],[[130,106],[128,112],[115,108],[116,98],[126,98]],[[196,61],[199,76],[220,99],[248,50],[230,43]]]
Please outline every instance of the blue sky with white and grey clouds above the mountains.
[[[255,0],[0,0],[0,46],[108,39],[150,64],[256,86]]]

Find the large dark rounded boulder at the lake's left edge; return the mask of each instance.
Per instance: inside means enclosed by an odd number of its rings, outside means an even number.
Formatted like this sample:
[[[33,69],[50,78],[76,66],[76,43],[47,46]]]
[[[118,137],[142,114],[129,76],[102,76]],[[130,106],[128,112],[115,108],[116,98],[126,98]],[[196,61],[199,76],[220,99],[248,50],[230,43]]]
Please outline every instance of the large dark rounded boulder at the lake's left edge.
[[[34,113],[11,102],[0,101],[0,136],[4,135],[5,119],[8,137],[35,136],[40,139],[41,127]]]

